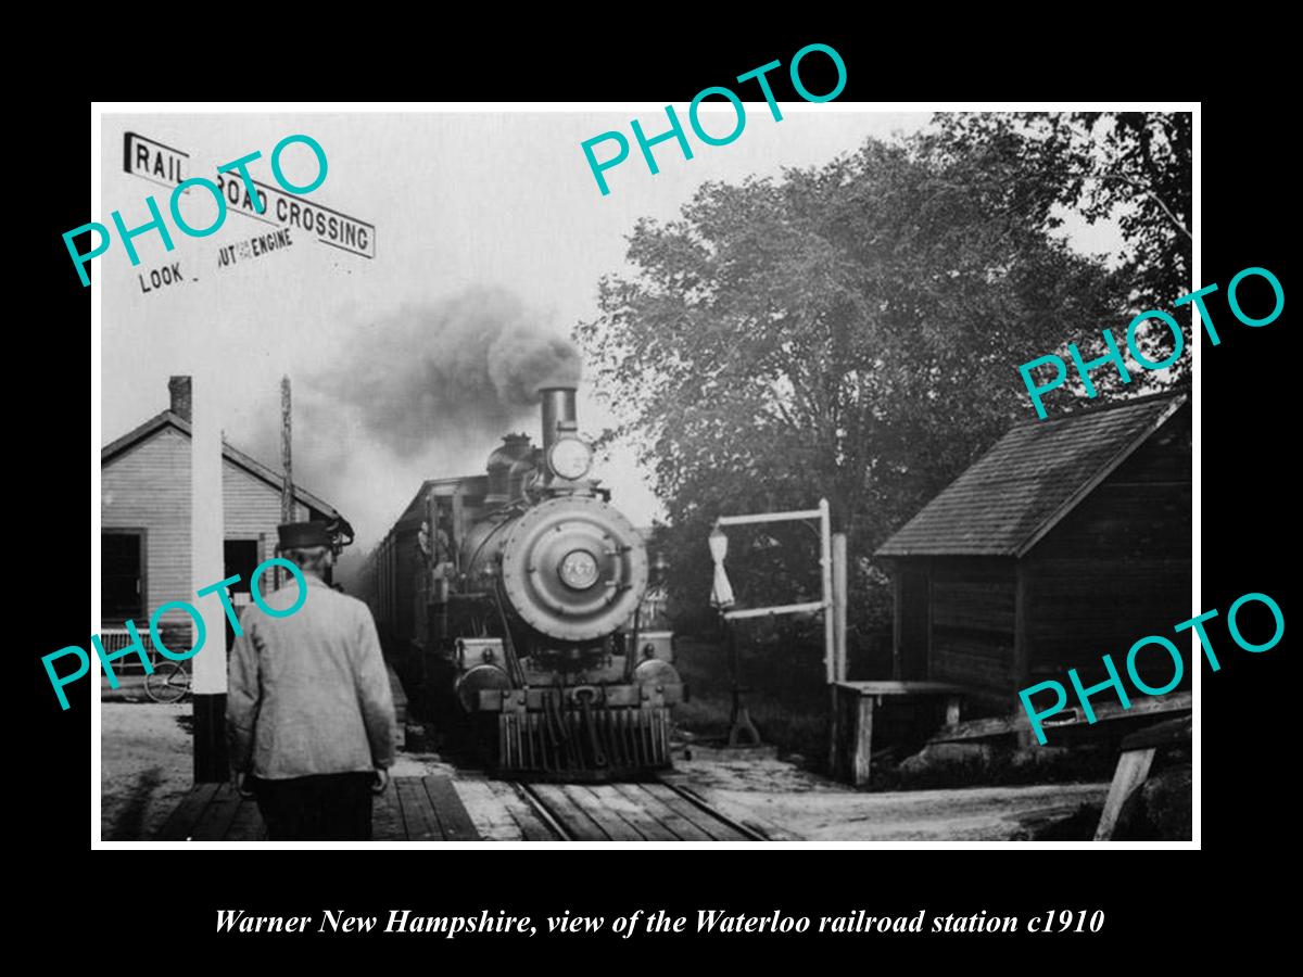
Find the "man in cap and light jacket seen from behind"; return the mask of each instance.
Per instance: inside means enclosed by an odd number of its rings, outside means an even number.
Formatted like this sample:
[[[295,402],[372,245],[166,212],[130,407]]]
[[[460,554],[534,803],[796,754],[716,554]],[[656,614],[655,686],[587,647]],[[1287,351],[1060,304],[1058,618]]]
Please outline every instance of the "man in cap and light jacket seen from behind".
[[[388,784],[395,714],[370,608],[324,581],[323,522],[279,528],[302,571],[240,616],[231,651],[227,737],[271,840],[371,840],[371,793]],[[300,588],[306,593],[300,594]],[[297,610],[285,614],[302,599]]]

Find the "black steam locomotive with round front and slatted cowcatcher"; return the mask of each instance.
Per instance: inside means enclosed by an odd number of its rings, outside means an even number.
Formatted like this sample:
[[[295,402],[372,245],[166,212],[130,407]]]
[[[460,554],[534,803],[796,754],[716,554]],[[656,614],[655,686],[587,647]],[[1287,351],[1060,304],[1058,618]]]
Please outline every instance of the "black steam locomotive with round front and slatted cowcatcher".
[[[539,393],[542,446],[509,434],[486,474],[426,481],[373,552],[365,597],[409,706],[469,732],[498,775],[668,767],[684,688],[645,599],[645,541],[589,477],[575,389]]]

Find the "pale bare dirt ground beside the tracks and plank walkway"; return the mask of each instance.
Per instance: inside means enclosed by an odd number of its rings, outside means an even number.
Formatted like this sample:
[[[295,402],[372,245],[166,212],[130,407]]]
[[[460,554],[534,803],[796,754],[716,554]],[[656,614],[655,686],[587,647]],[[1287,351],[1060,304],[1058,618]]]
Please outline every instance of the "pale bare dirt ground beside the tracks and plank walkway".
[[[103,838],[151,838],[190,788],[190,706],[104,702],[102,709]],[[459,776],[430,753],[400,753],[391,772]],[[737,821],[778,826],[774,836],[809,842],[1028,839],[1083,805],[1101,805],[1108,793],[1105,783],[874,793],[778,759],[774,750],[700,744],[692,759],[675,758],[671,776]],[[513,836],[506,832],[509,791],[494,789],[482,775],[463,775],[457,789],[486,839]]]

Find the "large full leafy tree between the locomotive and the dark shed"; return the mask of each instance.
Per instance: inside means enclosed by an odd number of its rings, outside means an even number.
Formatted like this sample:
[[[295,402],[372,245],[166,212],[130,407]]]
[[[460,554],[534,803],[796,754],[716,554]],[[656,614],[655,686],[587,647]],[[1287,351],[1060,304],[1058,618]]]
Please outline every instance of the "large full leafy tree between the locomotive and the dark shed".
[[[852,624],[889,621],[874,548],[1027,417],[1018,363],[1121,314],[1115,277],[1046,233],[1052,198],[1012,207],[1006,176],[870,139],[636,224],[576,336],[668,509],[680,611],[706,610],[717,515],[826,496]]]

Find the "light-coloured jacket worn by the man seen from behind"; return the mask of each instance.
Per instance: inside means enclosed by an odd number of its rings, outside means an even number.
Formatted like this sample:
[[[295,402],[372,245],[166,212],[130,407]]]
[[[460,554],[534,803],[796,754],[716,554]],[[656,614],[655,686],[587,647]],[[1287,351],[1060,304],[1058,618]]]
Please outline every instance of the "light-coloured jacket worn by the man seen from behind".
[[[231,651],[231,765],[267,780],[375,770],[394,763],[395,715],[371,611],[311,574],[285,617],[253,603]],[[298,599],[291,578],[266,604]]]

